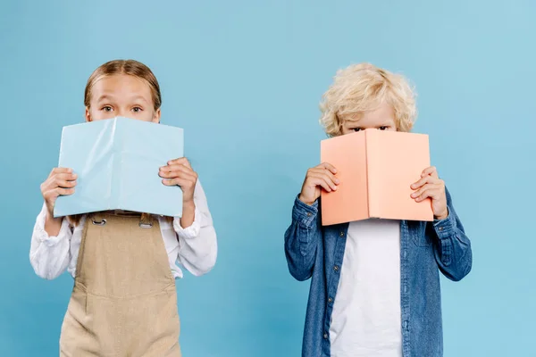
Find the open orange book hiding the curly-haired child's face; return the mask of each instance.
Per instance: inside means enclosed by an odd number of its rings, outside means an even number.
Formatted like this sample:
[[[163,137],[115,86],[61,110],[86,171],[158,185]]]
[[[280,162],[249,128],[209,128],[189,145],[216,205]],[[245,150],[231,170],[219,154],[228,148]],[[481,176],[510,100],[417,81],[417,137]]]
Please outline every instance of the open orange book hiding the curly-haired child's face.
[[[322,190],[322,225],[353,220],[433,220],[431,200],[410,187],[430,166],[428,136],[366,129],[321,142],[321,161],[337,169],[337,191]]]

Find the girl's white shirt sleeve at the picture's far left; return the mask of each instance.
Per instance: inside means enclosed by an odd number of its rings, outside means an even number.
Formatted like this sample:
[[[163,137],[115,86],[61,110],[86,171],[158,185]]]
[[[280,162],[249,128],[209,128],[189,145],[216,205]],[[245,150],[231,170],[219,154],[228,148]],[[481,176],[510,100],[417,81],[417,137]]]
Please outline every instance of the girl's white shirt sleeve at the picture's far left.
[[[63,218],[60,233],[57,237],[49,237],[45,220],[46,206],[43,205],[31,236],[29,262],[39,277],[53,279],[59,277],[69,265],[72,228],[69,221]]]

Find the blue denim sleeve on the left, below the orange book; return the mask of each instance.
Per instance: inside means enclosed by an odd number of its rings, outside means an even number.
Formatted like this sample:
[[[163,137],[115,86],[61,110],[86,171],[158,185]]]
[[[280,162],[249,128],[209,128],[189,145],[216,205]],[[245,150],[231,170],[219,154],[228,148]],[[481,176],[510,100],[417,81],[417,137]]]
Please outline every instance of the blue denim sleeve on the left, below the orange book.
[[[292,209],[292,223],[285,232],[285,255],[290,275],[299,281],[313,275],[316,248],[322,238],[318,201],[307,205],[298,198]]]

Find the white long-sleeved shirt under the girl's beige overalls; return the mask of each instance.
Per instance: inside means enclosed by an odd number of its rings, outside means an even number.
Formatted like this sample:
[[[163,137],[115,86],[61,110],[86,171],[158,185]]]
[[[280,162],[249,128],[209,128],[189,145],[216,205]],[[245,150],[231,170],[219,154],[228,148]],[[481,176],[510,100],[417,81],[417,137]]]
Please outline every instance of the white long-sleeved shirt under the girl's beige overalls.
[[[194,191],[194,203],[195,218],[188,228],[180,227],[179,218],[174,218],[171,223],[158,217],[163,244],[174,278],[183,276],[178,264],[199,276],[211,270],[216,262],[216,232],[208,211],[205,192],[199,181]],[[86,216],[83,216],[80,224],[74,228],[66,218],[63,218],[62,228],[57,237],[48,236],[45,231],[45,220],[44,204],[31,237],[29,262],[41,278],[57,278],[65,270],[68,270],[74,278]]]

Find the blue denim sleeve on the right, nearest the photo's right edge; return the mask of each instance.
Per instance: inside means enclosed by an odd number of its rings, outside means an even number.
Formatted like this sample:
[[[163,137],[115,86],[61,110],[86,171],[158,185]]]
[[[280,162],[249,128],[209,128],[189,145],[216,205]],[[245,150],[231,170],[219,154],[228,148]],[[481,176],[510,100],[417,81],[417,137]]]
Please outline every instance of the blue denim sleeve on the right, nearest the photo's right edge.
[[[435,257],[445,277],[459,281],[464,278],[473,265],[471,241],[465,235],[465,229],[459,220],[446,189],[448,217],[445,220],[431,222],[435,236],[439,242],[435,246]]]

